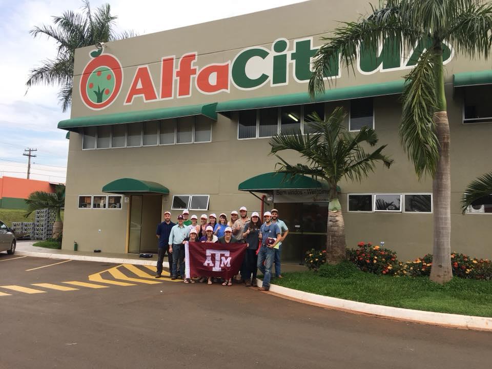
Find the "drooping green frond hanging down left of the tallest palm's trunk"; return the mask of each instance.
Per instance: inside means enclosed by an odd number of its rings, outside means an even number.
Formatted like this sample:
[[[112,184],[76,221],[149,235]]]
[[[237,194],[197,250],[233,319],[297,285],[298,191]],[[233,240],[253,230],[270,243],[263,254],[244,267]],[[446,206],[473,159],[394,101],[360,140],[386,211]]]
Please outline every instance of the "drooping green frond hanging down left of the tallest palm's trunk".
[[[416,67],[405,76],[400,139],[419,178],[434,176],[439,161],[439,144],[433,115],[436,111],[436,84],[433,50],[426,50]]]

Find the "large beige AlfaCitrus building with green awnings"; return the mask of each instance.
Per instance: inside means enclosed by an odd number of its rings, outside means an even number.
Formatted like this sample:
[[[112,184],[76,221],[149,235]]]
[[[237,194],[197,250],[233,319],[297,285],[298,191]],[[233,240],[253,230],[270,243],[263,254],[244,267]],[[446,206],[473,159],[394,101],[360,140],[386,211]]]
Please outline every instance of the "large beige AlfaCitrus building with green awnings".
[[[310,60],[337,20],[355,20],[364,0],[309,2],[108,43],[75,54],[63,249],[148,252],[164,211],[227,213],[275,206],[291,235],[286,262],[324,247],[327,198],[319,182],[272,176],[268,137],[305,130],[310,112],[342,106],[350,131],[372,125],[395,159],[362,183],[341,183],[347,245],[384,241],[400,258],[432,250],[432,182],[418,181],[400,146],[402,76],[408,55],[361,53],[355,75],[334,60],[331,89],[312,101]],[[393,55],[393,56],[392,56]],[[445,50],[452,132],[452,247],[490,255],[490,206],[461,215],[467,183],[490,170],[489,63]],[[282,154],[292,162],[294,153]],[[264,197],[263,197],[264,196]],[[386,205],[384,205],[386,204]]]

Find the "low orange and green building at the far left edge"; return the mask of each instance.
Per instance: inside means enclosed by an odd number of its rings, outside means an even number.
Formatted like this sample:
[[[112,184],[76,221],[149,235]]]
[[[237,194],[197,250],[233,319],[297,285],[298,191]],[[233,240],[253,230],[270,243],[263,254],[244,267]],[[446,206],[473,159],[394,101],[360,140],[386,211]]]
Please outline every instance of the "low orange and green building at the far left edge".
[[[36,179],[0,177],[0,208],[27,209],[26,202],[34,191],[55,192],[57,183]]]

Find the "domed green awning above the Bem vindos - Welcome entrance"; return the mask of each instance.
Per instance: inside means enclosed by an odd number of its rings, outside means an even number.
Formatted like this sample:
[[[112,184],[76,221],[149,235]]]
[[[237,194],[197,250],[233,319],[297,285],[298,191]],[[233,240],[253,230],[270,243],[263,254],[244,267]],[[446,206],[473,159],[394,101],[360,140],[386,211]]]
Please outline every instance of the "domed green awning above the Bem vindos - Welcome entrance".
[[[282,173],[270,172],[251,177],[239,183],[239,191],[264,192],[271,190],[305,190],[326,189],[327,185],[311,177],[295,175],[294,178],[285,178]],[[337,186],[337,192],[340,187]]]

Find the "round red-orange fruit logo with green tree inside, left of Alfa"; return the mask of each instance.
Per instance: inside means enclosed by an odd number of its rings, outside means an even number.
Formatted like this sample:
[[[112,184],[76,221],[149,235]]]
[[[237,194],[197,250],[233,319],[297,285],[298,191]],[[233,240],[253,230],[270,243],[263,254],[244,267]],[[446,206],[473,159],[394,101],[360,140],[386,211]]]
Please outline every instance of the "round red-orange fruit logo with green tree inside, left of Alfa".
[[[100,51],[91,54],[80,77],[80,97],[93,110],[108,107],[119,94],[123,73],[119,60],[111,54]]]

